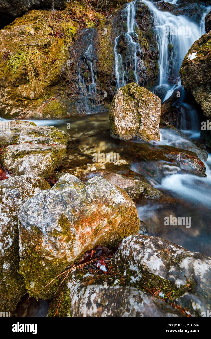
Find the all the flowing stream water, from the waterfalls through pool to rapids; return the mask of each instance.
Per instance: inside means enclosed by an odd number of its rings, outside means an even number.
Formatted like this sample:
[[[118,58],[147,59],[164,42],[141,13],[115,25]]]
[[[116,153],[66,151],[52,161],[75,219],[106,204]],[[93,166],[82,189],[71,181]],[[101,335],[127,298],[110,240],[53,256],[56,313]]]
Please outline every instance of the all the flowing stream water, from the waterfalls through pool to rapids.
[[[138,1],[138,0],[136,0]],[[125,37],[129,44],[128,62],[126,66],[122,64],[122,56],[118,53],[118,42],[120,36],[116,37],[114,43],[115,72],[117,76],[117,88],[127,83],[127,72],[132,70],[137,82],[137,58],[136,58],[136,34],[135,34],[135,3],[127,4],[124,9],[127,14],[127,32]],[[183,58],[188,49],[204,32],[204,17],[208,13],[208,7],[204,7],[200,23],[194,23],[185,16],[175,17],[172,13],[161,12],[155,5],[144,0],[150,8],[157,43],[159,46],[159,69],[160,77],[158,86],[166,86],[166,96],[171,95],[177,84],[170,84],[167,79],[168,74],[178,76]],[[169,1],[173,4],[177,0]],[[175,29],[176,27],[176,29]],[[181,34],[181,27],[183,33]],[[172,34],[173,29],[176,34]],[[169,34],[167,34],[169,33]],[[170,46],[170,45],[171,46]],[[86,64],[91,76],[84,79],[78,73],[78,85],[81,86],[82,95],[85,97],[86,111],[89,113],[87,98],[96,94],[96,77],[92,67],[93,49],[89,44],[82,58],[79,60],[79,68]],[[86,114],[60,120],[33,120],[37,125],[54,125],[63,131],[70,133],[72,142],[68,145],[67,155],[60,170],[71,172],[72,166],[84,165],[89,168],[92,153],[96,151],[109,153],[116,152],[120,155],[122,166],[113,165],[111,170],[124,172],[133,171],[141,176],[143,180],[149,182],[163,193],[160,201],[149,201],[139,199],[136,201],[140,220],[148,226],[148,235],[159,236],[163,239],[173,241],[182,245],[190,251],[201,252],[211,255],[211,227],[210,227],[210,206],[211,206],[211,155],[206,157],[203,145],[199,139],[200,124],[197,119],[196,108],[186,102],[185,92],[182,93],[180,102],[189,114],[190,125],[187,126],[186,119],[182,119],[182,129],[185,135],[175,136],[172,131],[161,129],[160,142],[144,143],[139,140],[129,140],[127,142],[111,138],[109,135],[108,112],[100,114]],[[185,109],[184,108],[184,109]],[[187,113],[188,112],[188,113]],[[4,121],[4,119],[1,119]],[[71,124],[71,129],[67,129],[67,124]],[[189,131],[187,129],[189,128]],[[196,144],[196,141],[199,142]],[[173,147],[173,148],[172,148]],[[184,170],[183,159],[175,160],[172,163],[170,151],[175,152],[175,148],[194,149],[199,158],[206,163],[207,177],[195,175],[193,172]],[[136,150],[133,157],[132,150]],[[77,163],[77,156],[81,158]],[[138,156],[137,156],[138,154]],[[159,158],[160,154],[162,155]],[[84,155],[84,156],[83,156]],[[162,158],[165,155],[165,160]],[[124,160],[125,159],[125,160]],[[164,218],[167,216],[190,217],[190,227],[165,226]]]

